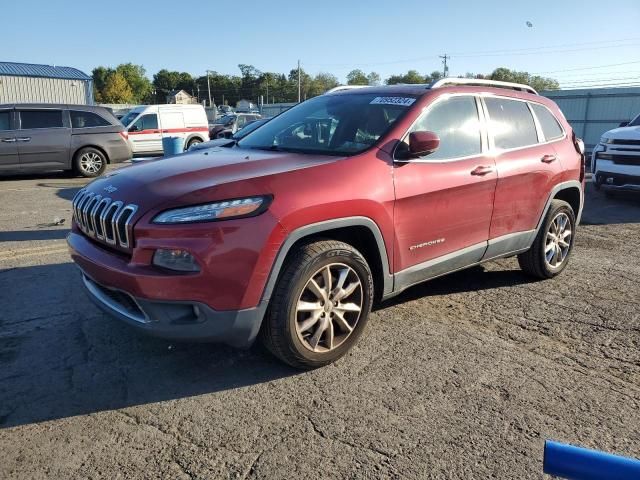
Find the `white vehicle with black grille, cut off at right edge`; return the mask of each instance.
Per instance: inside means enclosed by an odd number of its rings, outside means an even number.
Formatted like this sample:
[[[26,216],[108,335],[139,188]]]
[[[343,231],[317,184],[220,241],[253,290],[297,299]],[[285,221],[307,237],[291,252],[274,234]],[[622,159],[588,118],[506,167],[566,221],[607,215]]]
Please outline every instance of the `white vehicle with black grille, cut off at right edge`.
[[[591,171],[596,188],[640,191],[640,115],[602,135]]]

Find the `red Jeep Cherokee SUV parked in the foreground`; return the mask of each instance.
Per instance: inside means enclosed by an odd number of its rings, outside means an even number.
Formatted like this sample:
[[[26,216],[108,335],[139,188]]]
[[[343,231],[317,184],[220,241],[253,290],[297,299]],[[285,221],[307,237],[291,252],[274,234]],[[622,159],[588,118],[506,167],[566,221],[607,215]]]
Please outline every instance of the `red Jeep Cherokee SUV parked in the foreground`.
[[[123,168],[73,200],[73,260],[101,308],[149,333],[318,367],[374,300],[518,256],[559,274],[584,156],[525,85],[339,88],[242,140]]]

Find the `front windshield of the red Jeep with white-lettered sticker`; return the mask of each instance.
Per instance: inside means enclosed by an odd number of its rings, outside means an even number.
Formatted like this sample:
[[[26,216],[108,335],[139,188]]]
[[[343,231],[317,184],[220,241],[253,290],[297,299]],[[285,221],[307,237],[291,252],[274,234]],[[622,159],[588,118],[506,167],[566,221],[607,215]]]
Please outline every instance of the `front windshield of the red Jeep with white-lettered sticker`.
[[[373,93],[320,95],[243,138],[243,148],[327,155],[360,153],[380,139],[417,97]]]

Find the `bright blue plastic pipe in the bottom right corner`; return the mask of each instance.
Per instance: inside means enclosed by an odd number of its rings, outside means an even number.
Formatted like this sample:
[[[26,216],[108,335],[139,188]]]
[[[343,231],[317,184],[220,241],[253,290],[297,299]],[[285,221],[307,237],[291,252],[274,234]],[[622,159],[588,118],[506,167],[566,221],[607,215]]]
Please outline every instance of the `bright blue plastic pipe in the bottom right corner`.
[[[543,470],[569,480],[638,480],[640,460],[547,440]]]

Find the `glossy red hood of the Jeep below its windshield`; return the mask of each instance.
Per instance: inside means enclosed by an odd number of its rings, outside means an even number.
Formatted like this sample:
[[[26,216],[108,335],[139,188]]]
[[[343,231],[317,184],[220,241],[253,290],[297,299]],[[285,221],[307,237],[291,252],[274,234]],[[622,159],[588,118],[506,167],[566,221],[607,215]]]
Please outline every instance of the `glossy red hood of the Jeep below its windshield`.
[[[213,147],[121,168],[94,180],[86,188],[125,204],[136,204],[142,214],[190,194],[194,195],[193,203],[222,200],[204,191],[216,185],[310,168],[341,158]],[[203,195],[198,198],[198,193]]]

